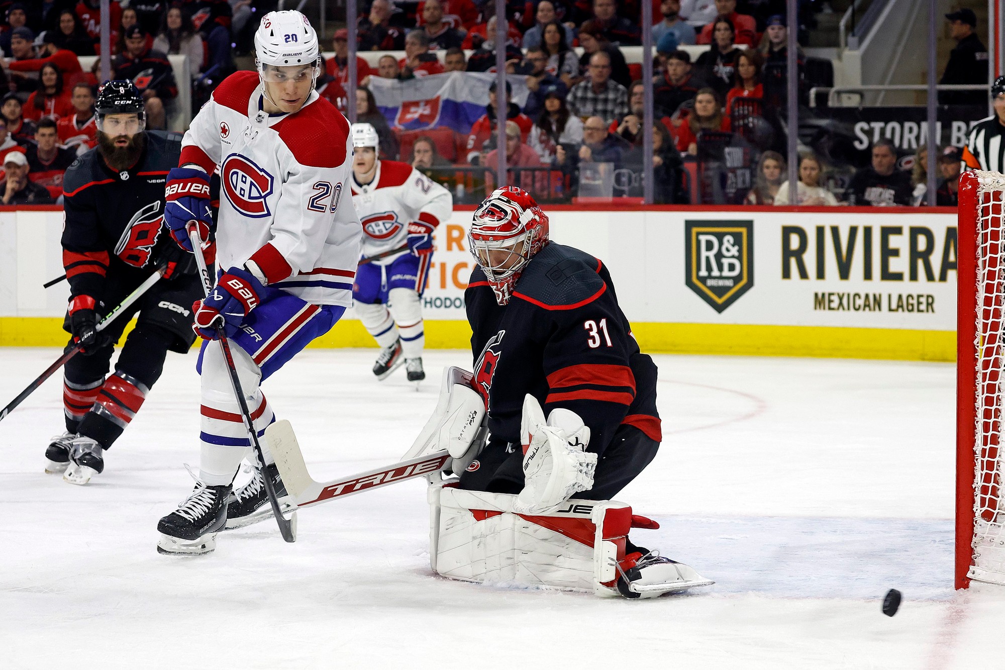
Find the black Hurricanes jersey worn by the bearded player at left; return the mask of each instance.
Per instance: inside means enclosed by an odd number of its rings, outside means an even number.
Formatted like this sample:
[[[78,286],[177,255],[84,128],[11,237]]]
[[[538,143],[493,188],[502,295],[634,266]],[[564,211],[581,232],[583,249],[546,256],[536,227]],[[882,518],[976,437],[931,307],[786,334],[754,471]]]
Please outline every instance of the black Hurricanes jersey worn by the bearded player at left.
[[[182,136],[150,131],[140,160],[129,170],[110,168],[91,149],[63,176],[63,267],[72,296],[97,296],[109,272],[149,275],[155,246],[171,243],[164,221],[164,186],[177,167]]]

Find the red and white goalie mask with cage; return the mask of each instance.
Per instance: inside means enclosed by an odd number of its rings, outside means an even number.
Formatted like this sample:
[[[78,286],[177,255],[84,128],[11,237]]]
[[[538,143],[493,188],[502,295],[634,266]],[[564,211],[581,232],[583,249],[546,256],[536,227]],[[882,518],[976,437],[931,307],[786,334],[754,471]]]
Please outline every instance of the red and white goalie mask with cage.
[[[506,305],[524,268],[548,243],[548,215],[524,189],[496,188],[474,210],[467,241],[495,302]]]

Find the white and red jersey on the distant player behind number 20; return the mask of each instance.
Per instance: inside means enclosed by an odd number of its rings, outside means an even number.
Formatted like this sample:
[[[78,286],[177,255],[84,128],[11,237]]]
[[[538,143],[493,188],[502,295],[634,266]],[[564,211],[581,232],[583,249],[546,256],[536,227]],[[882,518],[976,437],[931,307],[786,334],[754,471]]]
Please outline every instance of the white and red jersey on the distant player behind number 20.
[[[353,204],[363,225],[363,256],[373,257],[406,246],[408,224],[427,223],[434,228],[453,211],[453,197],[436,182],[407,163],[377,161],[373,181],[361,186],[352,177]],[[407,246],[402,254],[407,253]],[[399,254],[377,265],[387,265]]]

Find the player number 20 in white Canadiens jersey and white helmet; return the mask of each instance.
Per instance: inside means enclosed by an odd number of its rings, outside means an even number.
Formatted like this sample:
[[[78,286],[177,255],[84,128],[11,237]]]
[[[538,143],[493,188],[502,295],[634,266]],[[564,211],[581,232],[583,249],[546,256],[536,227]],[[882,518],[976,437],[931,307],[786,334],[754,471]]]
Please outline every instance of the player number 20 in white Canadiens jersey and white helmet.
[[[261,436],[275,418],[259,384],[350,306],[361,233],[344,197],[349,123],[314,90],[318,35],[299,12],[278,11],[262,18],[254,41],[257,71],[224,79],[192,120],[181,167],[168,174],[165,218],[183,247],[191,250],[190,221],[206,239],[209,175],[219,169],[217,284],[193,305],[194,328],[207,340],[224,328]],[[251,450],[217,343],[203,342],[199,372],[199,473],[188,499],[158,523],[163,553],[211,551],[225,526],[270,516],[263,476],[285,494],[265,441],[263,468],[231,490]]]

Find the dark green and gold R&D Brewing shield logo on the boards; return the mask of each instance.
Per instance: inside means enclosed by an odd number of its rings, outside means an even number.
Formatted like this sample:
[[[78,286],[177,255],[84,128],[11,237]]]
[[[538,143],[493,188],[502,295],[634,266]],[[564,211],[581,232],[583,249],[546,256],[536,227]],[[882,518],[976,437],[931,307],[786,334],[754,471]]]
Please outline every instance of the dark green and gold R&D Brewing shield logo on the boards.
[[[684,221],[684,282],[723,312],[754,286],[754,221]]]

